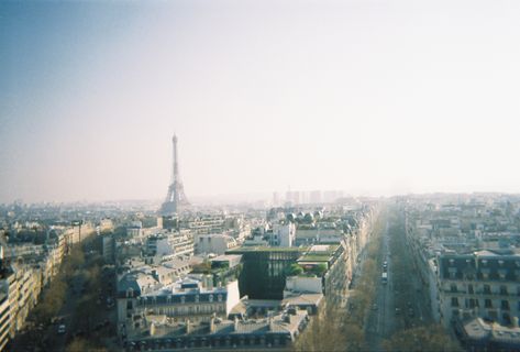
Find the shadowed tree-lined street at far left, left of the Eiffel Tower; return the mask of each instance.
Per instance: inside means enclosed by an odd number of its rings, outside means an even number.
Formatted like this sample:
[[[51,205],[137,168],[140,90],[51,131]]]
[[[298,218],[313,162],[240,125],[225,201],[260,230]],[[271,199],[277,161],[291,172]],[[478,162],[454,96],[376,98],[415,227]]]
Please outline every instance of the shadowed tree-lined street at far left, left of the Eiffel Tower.
[[[104,265],[96,237],[70,249],[44,290],[15,351],[109,351],[115,336],[113,268]],[[109,346],[109,348],[108,348]]]

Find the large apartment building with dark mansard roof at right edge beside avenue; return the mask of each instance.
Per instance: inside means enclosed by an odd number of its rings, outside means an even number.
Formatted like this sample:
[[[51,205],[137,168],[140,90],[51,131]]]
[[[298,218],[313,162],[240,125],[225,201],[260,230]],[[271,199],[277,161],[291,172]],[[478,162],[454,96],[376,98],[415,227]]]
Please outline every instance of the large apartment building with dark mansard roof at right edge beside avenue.
[[[439,255],[441,321],[480,317],[518,327],[520,251],[482,250]]]

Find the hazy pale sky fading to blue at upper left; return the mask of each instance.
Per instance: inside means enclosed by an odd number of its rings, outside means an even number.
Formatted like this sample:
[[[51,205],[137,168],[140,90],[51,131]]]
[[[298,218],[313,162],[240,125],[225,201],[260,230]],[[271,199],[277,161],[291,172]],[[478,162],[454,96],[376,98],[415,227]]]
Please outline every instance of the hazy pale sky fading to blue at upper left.
[[[520,191],[519,1],[0,3],[0,202]]]

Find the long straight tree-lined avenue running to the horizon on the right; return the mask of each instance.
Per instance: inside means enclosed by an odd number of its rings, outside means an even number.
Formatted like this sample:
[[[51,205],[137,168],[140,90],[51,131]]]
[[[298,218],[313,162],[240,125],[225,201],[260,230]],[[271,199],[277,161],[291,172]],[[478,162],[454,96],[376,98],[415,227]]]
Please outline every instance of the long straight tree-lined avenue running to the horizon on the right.
[[[384,272],[388,275],[386,284],[381,282]],[[346,307],[324,307],[297,340],[295,350],[460,350],[432,320],[423,306],[424,294],[406,245],[403,218],[389,208],[380,215],[361,255]]]

